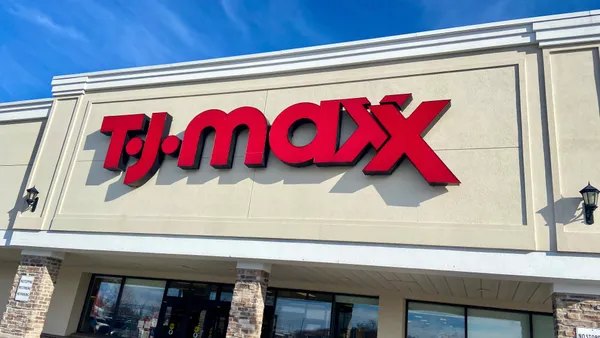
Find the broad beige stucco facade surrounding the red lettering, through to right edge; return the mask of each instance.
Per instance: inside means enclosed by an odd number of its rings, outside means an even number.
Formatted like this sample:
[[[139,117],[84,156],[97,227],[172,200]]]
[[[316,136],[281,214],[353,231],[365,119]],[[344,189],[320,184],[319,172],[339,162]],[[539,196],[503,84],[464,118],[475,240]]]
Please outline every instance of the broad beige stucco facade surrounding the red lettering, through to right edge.
[[[580,170],[586,158],[598,157],[597,59],[597,46],[522,47],[63,97],[54,103],[30,179],[48,197],[16,228],[600,251],[593,245],[598,230],[581,217],[562,226],[572,212],[564,206],[576,207],[578,190],[598,175],[597,164]],[[230,170],[209,166],[210,137],[200,170],[181,170],[168,158],[139,188],[102,168],[109,137],[99,127],[107,115],[166,111],[171,134],[181,135],[206,109],[249,105],[272,122],[301,101],[377,102],[397,93],[413,94],[407,115],[421,101],[452,100],[425,140],[459,186],[429,186],[408,161],[391,176],[367,177],[361,170],[373,153],[353,168],[298,169],[271,156],[267,168],[249,169],[245,134]],[[352,130],[347,120],[345,137]],[[591,136],[581,138],[581,130]],[[295,137],[310,139],[310,128]]]

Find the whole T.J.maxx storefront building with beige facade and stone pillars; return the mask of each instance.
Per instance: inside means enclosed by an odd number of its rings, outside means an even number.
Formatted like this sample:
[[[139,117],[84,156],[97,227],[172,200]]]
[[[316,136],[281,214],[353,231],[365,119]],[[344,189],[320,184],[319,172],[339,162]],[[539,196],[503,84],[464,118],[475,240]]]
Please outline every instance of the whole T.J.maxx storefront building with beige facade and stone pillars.
[[[600,337],[599,54],[591,11],[55,77],[0,105],[0,336]]]

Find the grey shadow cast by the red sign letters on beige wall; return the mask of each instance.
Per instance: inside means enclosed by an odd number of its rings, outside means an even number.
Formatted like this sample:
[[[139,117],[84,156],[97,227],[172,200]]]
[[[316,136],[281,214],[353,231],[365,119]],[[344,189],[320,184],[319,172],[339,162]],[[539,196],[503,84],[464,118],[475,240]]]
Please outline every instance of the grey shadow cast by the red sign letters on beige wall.
[[[343,119],[340,144],[343,144],[355,128],[356,125],[350,118]],[[308,144],[314,135],[314,126],[309,124],[299,128],[292,136],[292,141],[301,146]],[[183,132],[177,136],[182,138]],[[218,184],[229,185],[250,179],[254,183],[263,185],[280,182],[305,185],[323,184],[337,179],[329,193],[352,194],[372,186],[387,205],[405,207],[417,207],[422,202],[448,191],[443,186],[429,185],[409,160],[403,161],[391,175],[365,175],[362,169],[373,157],[374,150],[370,150],[355,166],[316,167],[311,165],[295,168],[282,163],[271,154],[266,168],[247,168],[244,165],[247,137],[247,132],[242,132],[238,136],[231,169],[215,169],[210,166],[214,140],[214,133],[211,133],[206,138],[198,170],[183,170],[177,167],[177,159],[165,156],[157,174],[147,184],[172,185],[185,180],[187,185],[202,185],[216,179]],[[108,142],[109,137],[101,134],[99,130],[87,136],[84,149],[94,151],[92,159],[94,163],[88,172],[86,185],[98,186],[110,182],[105,201],[112,201],[140,188],[132,188],[123,184],[121,172],[103,168]],[[134,163],[135,159],[130,159],[129,165]]]

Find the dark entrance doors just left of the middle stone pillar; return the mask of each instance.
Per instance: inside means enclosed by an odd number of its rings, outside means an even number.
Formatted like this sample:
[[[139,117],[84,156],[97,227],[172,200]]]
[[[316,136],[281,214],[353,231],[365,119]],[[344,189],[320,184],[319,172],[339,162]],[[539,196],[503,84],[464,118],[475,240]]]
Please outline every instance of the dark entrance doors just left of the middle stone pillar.
[[[167,298],[155,337],[225,338],[228,320],[228,303]]]

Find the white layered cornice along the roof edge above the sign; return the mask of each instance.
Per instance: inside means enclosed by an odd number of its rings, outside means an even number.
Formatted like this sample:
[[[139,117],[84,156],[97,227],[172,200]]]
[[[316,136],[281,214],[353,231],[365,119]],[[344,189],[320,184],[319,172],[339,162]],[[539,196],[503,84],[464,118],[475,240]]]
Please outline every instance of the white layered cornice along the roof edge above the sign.
[[[503,21],[286,51],[56,76],[54,96],[297,72],[501,47],[600,41],[600,10]]]

